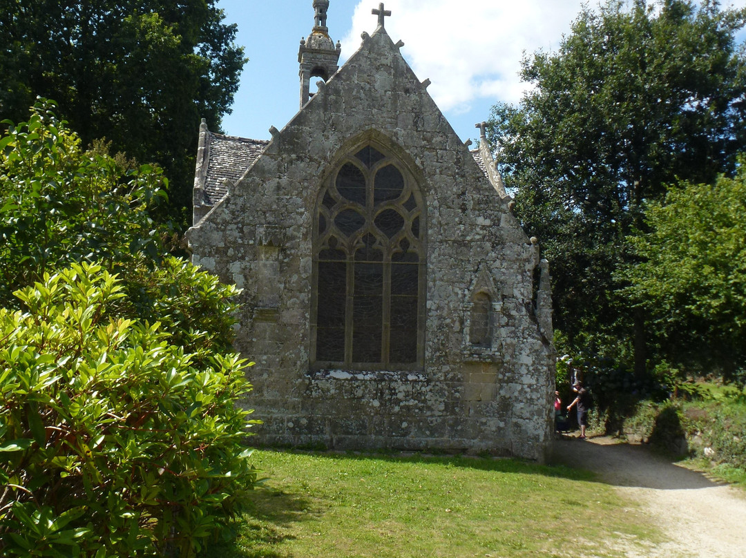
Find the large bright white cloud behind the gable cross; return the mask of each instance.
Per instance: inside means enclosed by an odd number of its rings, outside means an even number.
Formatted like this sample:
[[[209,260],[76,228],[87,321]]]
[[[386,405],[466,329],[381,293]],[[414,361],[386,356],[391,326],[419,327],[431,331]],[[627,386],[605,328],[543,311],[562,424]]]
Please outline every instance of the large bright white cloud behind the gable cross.
[[[518,78],[524,52],[556,50],[583,0],[389,0],[386,31],[416,75],[430,78],[428,91],[442,110],[466,113],[471,104],[516,103],[526,84]],[[746,0],[723,1],[745,7]],[[352,29],[342,39],[343,56],[360,47],[360,34],[372,33],[374,2],[361,0]],[[591,2],[595,5],[595,2]]]

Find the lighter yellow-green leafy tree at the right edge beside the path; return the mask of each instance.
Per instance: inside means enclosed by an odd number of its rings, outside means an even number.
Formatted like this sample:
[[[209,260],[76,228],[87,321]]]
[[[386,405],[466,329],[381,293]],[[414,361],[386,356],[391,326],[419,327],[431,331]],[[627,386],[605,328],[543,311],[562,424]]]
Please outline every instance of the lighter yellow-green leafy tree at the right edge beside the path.
[[[746,369],[746,168],[715,184],[683,182],[646,207],[650,232],[629,241],[630,299],[659,330],[665,357],[686,369]]]

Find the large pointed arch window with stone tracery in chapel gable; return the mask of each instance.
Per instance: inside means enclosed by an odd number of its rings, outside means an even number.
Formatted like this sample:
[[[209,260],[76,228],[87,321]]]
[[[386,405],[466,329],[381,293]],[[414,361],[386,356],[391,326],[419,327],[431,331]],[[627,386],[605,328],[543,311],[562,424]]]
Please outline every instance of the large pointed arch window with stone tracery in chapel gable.
[[[332,173],[313,237],[316,368],[421,367],[422,214],[416,182],[383,149],[359,148]]]

